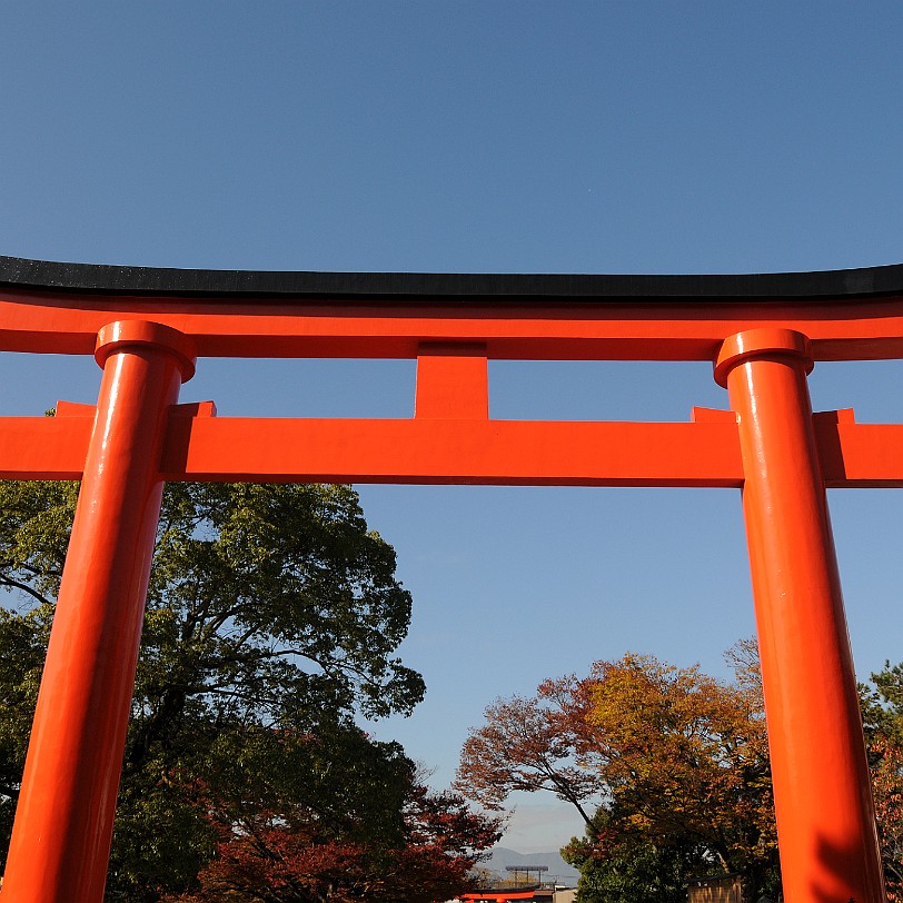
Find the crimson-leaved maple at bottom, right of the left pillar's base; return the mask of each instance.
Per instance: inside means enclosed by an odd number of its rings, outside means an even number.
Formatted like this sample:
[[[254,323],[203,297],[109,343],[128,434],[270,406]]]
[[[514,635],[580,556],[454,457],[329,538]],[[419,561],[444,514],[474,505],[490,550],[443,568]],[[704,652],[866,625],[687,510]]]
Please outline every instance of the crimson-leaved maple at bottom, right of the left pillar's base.
[[[311,754],[307,746],[315,755],[321,746],[319,738],[287,742],[302,756]],[[433,903],[469,890],[469,872],[479,851],[498,840],[500,821],[472,813],[454,794],[427,791],[413,763],[398,757],[397,745],[370,745],[394,756],[396,767],[377,794],[368,782],[379,770],[343,775],[345,795],[366,797],[364,810],[311,810],[304,800],[309,791],[286,786],[307,770],[259,784],[255,806],[247,800],[210,805],[220,838],[217,855],[201,870],[197,891],[168,900]]]

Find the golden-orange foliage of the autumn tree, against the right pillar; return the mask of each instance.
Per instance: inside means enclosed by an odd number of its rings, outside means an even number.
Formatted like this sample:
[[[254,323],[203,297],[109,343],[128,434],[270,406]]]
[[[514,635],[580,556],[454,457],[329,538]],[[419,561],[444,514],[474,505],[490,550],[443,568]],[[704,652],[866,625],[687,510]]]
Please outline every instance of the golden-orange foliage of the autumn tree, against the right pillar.
[[[757,893],[777,869],[764,715],[755,697],[652,656],[597,663],[588,679],[593,762],[625,832],[704,847]]]

